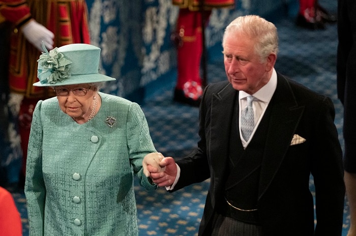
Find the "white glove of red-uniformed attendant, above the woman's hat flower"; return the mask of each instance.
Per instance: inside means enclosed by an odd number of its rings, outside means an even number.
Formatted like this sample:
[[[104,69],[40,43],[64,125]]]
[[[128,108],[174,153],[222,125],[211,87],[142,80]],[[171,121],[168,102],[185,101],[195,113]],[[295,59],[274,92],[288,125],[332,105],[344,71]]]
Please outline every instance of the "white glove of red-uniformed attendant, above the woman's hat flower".
[[[53,49],[54,34],[36,20],[30,20],[22,26],[21,31],[28,42],[34,45],[40,52],[43,52],[42,41],[47,50]]]

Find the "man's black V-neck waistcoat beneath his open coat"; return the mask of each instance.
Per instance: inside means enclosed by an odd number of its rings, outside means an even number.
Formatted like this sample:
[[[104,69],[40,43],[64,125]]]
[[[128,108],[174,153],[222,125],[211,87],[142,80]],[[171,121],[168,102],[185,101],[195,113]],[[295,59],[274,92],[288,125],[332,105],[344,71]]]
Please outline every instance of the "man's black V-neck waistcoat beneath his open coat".
[[[266,109],[252,140],[245,150],[240,139],[238,106],[235,106],[236,108],[233,112],[229,162],[226,167],[228,174],[224,194],[233,206],[243,210],[257,209],[260,166],[266,148],[265,141],[271,114],[270,105]]]

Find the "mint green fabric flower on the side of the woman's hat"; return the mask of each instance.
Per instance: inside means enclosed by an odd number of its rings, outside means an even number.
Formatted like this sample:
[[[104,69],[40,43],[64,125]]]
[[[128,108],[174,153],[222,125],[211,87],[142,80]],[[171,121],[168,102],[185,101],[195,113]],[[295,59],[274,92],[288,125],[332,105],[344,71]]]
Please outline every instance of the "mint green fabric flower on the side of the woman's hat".
[[[37,61],[42,68],[38,69],[38,78],[41,83],[55,84],[58,81],[63,81],[71,77],[70,64],[73,62],[65,58],[65,56],[58,52],[58,48],[54,48],[48,52],[44,43],[42,42],[42,52],[40,59]]]

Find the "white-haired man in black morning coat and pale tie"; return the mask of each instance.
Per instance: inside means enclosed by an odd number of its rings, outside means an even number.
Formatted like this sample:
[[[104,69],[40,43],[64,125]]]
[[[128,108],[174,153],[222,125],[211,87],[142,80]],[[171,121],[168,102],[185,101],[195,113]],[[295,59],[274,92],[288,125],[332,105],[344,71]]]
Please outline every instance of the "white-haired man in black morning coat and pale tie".
[[[258,16],[223,37],[228,81],[208,85],[197,148],[163,158],[169,191],[210,178],[200,236],[340,236],[345,186],[332,100],[277,73],[277,28]],[[313,196],[314,178],[316,226]]]

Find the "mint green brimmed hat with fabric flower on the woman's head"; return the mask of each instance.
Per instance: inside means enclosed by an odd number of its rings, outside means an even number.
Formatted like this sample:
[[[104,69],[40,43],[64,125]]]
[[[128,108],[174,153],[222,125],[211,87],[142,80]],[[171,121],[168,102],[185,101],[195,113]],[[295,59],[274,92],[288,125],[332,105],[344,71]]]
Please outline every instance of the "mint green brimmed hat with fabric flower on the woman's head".
[[[101,49],[90,44],[68,44],[48,52],[42,42],[38,59],[37,77],[34,86],[61,86],[115,80],[99,74]]]

